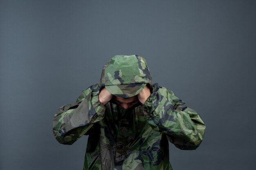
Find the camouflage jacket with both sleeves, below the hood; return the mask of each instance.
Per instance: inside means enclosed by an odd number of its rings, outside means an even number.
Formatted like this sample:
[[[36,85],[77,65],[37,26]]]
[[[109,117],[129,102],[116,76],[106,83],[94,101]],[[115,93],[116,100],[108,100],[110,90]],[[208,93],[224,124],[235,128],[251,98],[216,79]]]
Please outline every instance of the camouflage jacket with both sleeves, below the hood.
[[[202,119],[167,88],[154,84],[145,104],[130,109],[111,101],[103,106],[100,88],[90,86],[53,119],[54,137],[61,144],[89,135],[84,170],[172,170],[168,141],[182,150],[202,142]]]

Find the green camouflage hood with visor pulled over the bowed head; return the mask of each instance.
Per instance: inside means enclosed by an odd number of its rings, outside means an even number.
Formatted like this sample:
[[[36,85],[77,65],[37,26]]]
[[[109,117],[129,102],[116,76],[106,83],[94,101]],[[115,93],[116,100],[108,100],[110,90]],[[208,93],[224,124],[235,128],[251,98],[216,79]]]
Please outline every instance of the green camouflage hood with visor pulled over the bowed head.
[[[132,97],[145,86],[152,86],[146,60],[138,55],[116,55],[104,66],[101,73],[101,86],[113,95]]]

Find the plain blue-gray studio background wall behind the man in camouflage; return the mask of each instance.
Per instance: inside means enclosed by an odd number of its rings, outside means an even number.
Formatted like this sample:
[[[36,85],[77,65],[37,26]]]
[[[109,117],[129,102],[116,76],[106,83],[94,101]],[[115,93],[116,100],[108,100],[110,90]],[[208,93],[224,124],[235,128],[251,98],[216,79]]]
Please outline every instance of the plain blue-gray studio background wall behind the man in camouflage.
[[[198,111],[197,150],[175,170],[254,170],[254,0],[1,0],[0,169],[81,170],[84,136],[58,144],[52,117],[114,55],[146,58],[153,82]]]

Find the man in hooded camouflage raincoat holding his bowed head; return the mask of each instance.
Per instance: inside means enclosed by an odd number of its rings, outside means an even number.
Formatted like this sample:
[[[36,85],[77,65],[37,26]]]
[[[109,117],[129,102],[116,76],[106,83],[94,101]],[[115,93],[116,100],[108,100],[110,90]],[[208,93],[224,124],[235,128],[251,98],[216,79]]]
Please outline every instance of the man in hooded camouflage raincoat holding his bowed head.
[[[84,170],[172,170],[168,141],[196,149],[205,125],[172,91],[152,84],[144,58],[116,55],[99,84],[53,119],[54,137],[73,144],[89,135]]]

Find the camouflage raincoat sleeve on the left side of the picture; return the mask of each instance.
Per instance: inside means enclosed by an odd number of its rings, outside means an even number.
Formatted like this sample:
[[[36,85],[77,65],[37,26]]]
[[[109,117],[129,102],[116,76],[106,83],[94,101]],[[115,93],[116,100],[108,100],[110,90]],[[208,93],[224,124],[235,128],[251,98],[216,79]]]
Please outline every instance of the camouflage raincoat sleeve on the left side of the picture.
[[[61,144],[73,144],[87,135],[93,124],[104,117],[105,107],[99,102],[99,84],[84,90],[74,104],[59,108],[53,118],[54,137]]]

